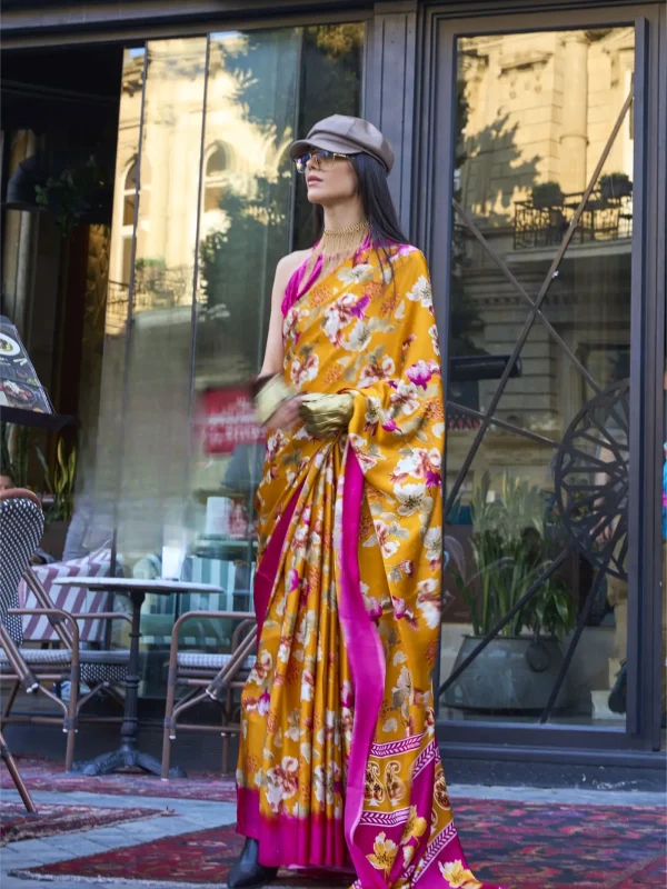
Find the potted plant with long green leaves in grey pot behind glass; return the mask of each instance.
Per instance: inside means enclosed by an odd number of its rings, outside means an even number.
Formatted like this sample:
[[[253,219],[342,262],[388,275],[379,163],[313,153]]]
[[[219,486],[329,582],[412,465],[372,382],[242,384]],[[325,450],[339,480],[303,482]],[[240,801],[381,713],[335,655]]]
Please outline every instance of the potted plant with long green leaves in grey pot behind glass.
[[[470,577],[452,573],[467,603],[472,633],[465,636],[456,667],[519,602],[549,567],[552,523],[536,486],[505,473],[497,496],[485,472],[471,503]],[[540,712],[563,665],[560,641],[573,629],[576,610],[569,589],[552,577],[541,583],[484,651],[447,689],[449,707],[495,712]],[[564,683],[557,709],[574,701]]]

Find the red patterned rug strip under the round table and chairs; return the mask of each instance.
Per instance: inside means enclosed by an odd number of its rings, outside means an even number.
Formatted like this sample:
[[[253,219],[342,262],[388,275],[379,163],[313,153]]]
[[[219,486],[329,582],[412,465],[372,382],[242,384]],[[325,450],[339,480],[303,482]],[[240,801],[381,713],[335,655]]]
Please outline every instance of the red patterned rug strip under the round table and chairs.
[[[166,799],[200,799],[213,802],[236,802],[232,778],[217,772],[190,772],[187,778],[162,781],[143,772],[120,772],[101,777],[68,773],[62,765],[47,759],[17,757],[23,780],[30,790],[56,790],[61,793],[84,791],[122,797],[162,797]],[[0,770],[0,789],[13,789],[10,775]]]

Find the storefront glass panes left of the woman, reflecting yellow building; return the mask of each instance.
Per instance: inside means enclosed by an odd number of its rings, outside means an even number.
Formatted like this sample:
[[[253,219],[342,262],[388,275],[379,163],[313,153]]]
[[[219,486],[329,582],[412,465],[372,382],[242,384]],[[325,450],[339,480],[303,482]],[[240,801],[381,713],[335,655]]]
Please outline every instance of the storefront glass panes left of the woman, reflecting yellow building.
[[[177,613],[252,608],[265,446],[248,384],[276,264],[309,238],[288,148],[315,120],[359,113],[364,33],[226,31],[126,52],[97,511],[112,516],[117,570],[225,590],[147,598],[147,695]],[[220,652],[231,629],[203,620],[181,642]]]

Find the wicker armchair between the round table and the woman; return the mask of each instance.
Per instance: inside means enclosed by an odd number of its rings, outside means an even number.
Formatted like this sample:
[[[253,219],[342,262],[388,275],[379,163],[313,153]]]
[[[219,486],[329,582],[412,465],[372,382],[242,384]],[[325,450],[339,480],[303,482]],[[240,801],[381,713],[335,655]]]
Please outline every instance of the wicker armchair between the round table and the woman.
[[[240,620],[231,638],[231,653],[209,655],[201,651],[178,650],[179,631],[189,620],[202,618]],[[165,735],[162,742],[162,778],[169,777],[171,745],[176,740],[177,726],[187,731],[220,732],[222,735],[222,772],[229,771],[229,741],[240,731],[240,702],[235,691],[243,688],[248,673],[255,665],[257,647],[257,621],[246,611],[188,611],[173,625],[169,672],[167,677],[167,707],[165,710]],[[177,686],[189,691],[176,701]],[[213,700],[220,705],[222,722],[179,723],[178,719],[200,701]]]

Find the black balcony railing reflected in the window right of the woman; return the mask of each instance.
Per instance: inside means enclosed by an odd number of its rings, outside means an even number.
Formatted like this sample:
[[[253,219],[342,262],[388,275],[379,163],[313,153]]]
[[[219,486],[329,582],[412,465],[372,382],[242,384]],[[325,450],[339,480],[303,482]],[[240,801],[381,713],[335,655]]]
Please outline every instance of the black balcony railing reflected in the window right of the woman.
[[[557,247],[570,227],[584,192],[573,192],[536,206],[515,201],[514,249]],[[616,241],[633,237],[633,194],[609,196],[596,188],[586,202],[574,243]]]

